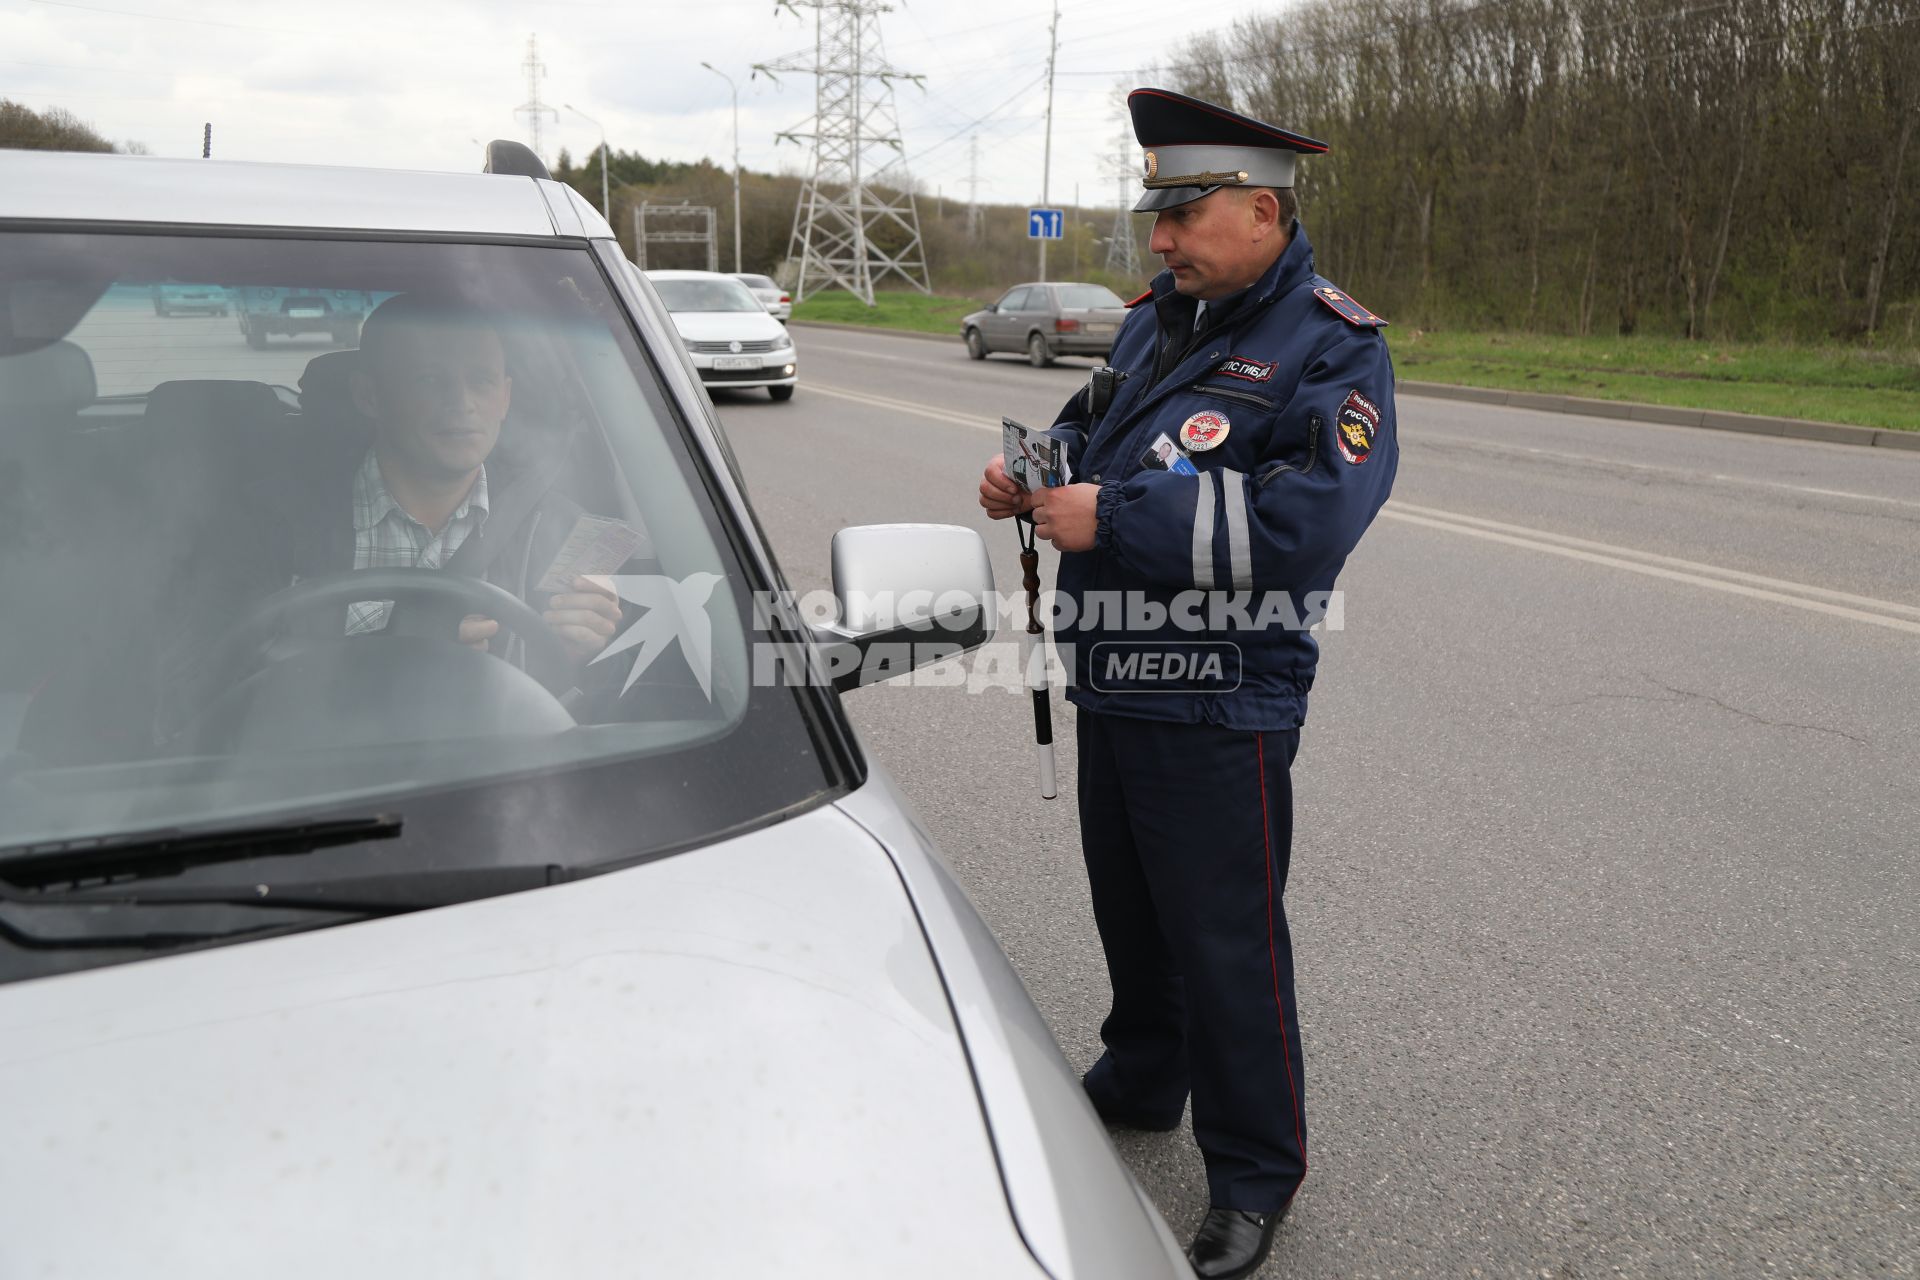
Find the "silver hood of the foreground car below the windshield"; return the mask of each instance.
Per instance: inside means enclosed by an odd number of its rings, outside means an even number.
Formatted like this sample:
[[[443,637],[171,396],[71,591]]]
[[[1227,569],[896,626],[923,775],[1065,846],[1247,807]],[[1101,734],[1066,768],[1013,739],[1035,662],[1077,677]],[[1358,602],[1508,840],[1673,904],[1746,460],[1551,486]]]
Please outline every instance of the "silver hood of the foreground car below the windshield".
[[[0,1098],[6,1276],[1035,1274],[899,875],[833,808],[15,983]]]

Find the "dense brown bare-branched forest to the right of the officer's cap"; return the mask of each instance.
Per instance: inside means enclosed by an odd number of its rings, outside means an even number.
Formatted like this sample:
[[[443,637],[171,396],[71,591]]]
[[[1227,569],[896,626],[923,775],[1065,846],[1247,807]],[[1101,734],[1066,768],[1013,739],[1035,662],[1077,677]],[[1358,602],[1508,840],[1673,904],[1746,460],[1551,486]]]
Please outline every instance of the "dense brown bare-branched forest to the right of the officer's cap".
[[[1332,144],[1302,223],[1390,319],[1914,342],[1920,0],[1302,0],[1169,61]]]

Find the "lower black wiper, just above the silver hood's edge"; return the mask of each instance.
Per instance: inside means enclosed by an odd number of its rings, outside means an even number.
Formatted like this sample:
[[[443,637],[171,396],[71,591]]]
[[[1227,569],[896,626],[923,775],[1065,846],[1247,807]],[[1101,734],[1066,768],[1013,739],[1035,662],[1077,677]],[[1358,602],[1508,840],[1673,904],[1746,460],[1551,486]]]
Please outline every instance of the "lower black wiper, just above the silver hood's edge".
[[[342,912],[348,915],[394,915],[436,906],[474,902],[545,889],[572,879],[563,865],[436,867],[390,871],[332,881],[253,883],[253,885],[125,885],[100,889],[61,889],[35,894],[8,894],[10,904],[44,906],[259,906],[284,912]]]

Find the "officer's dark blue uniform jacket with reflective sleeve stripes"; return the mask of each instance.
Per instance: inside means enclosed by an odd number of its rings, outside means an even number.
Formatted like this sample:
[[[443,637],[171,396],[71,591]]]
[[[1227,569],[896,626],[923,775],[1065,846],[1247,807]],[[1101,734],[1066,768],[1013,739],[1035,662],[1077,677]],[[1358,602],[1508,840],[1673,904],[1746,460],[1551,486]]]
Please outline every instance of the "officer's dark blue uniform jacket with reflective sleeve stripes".
[[[1114,342],[1127,380],[1106,413],[1083,390],[1054,424],[1073,480],[1100,484],[1094,549],[1060,557],[1054,635],[1062,654],[1071,645],[1081,708],[1250,731],[1306,720],[1319,645],[1288,624],[1325,608],[1400,461],[1386,340],[1363,307],[1334,290],[1342,315],[1315,290],[1331,286],[1298,223],[1256,284],[1208,303],[1198,334],[1194,299],[1160,273]],[[1146,464],[1160,434],[1179,443],[1206,413],[1229,426],[1190,455],[1198,476]],[[1158,620],[1156,606],[1179,612]],[[1154,651],[1227,662],[1206,679],[1116,666]]]

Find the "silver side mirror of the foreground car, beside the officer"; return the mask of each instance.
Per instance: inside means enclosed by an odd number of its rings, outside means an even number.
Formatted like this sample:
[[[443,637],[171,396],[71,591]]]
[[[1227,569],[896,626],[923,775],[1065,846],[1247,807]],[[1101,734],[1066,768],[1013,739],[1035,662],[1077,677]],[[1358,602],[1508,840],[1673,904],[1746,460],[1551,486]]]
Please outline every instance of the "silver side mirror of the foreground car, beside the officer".
[[[956,524],[860,524],[833,535],[839,620],[814,626],[841,693],[956,658],[993,635],[993,562]]]

